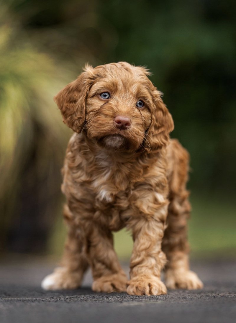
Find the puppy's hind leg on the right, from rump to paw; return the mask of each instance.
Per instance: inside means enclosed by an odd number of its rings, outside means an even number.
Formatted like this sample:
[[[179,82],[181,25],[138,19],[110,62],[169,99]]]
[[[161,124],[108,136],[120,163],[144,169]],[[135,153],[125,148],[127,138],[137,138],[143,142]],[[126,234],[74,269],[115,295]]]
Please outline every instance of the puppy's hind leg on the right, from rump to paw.
[[[168,288],[198,289],[203,284],[189,267],[187,220],[191,207],[188,201],[189,192],[186,190],[189,155],[176,140],[172,140],[169,148],[170,204],[168,226],[162,241],[162,250],[168,260],[165,266],[165,282]]]

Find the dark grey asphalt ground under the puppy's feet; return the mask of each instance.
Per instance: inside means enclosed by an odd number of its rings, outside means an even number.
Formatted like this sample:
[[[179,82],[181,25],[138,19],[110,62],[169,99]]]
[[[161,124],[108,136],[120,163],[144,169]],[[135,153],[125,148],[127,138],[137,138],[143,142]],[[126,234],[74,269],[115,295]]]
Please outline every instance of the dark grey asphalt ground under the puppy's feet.
[[[161,296],[94,293],[91,273],[77,290],[44,291],[53,265],[27,258],[0,262],[1,323],[236,322],[236,261],[194,261],[204,289]],[[128,266],[124,269],[128,272]]]

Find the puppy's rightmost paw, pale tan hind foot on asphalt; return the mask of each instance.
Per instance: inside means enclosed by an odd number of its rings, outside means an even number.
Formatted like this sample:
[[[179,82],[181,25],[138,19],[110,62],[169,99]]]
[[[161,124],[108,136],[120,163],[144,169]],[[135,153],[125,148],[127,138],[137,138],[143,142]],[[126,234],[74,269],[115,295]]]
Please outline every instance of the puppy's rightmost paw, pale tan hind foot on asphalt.
[[[193,271],[168,270],[165,282],[167,288],[170,289],[200,289],[203,287],[202,282]]]

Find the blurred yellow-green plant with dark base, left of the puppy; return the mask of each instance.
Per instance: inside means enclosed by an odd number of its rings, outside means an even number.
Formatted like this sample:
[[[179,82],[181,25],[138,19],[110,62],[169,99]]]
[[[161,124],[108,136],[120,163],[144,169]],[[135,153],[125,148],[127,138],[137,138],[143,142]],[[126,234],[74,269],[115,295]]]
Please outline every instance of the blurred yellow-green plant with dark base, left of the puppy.
[[[57,78],[53,60],[32,46],[12,18],[2,5],[0,248],[39,251],[58,209],[58,174],[70,133],[52,96],[67,79]]]

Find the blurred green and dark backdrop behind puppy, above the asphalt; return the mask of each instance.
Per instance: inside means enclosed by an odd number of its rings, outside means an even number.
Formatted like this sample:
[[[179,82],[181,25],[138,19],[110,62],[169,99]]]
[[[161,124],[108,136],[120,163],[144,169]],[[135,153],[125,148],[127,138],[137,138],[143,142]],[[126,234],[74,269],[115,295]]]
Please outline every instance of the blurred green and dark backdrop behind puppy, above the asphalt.
[[[71,130],[53,97],[89,62],[145,65],[191,155],[192,257],[236,251],[235,1],[0,1],[0,256],[62,253]],[[121,259],[132,241],[115,234]]]

